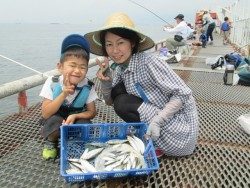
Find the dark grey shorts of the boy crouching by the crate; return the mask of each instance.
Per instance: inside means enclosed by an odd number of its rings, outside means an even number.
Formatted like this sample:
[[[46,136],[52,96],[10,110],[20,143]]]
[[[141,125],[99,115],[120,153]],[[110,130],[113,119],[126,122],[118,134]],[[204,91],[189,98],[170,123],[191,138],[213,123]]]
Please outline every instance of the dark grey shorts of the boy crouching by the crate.
[[[41,125],[43,126],[41,128],[41,135],[44,139],[47,139],[48,136],[55,132],[59,131],[60,127],[62,125],[64,118],[60,115],[53,115],[48,119],[42,119]],[[89,119],[78,119],[75,123],[91,123]]]

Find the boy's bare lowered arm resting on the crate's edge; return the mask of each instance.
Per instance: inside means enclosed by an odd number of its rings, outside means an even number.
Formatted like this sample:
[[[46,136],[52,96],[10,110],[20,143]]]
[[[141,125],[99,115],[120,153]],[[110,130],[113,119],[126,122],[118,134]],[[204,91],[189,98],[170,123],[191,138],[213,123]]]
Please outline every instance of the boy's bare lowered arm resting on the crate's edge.
[[[77,119],[93,119],[96,116],[95,102],[86,105],[87,110],[78,114],[71,114],[63,124],[73,124]]]

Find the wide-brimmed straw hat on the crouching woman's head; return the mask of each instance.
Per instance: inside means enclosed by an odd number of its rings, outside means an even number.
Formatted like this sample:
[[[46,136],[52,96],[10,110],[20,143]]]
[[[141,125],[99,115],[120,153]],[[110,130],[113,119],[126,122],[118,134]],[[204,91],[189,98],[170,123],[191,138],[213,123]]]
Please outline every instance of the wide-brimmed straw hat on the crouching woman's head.
[[[96,55],[103,55],[102,45],[100,42],[100,32],[111,28],[123,28],[136,32],[141,38],[138,46],[139,52],[150,49],[155,45],[154,41],[151,38],[142,34],[135,28],[133,21],[126,14],[119,12],[112,14],[107,19],[104,27],[102,27],[100,30],[93,31],[84,35],[89,41],[91,53]]]

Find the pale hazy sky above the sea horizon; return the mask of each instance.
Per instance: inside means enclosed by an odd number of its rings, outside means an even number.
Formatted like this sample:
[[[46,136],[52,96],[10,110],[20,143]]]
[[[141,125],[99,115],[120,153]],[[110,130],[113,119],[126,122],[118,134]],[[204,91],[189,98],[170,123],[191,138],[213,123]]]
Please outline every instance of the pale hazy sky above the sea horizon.
[[[167,22],[178,13],[193,21],[195,12],[214,10],[236,0],[133,0]],[[125,12],[134,22],[163,23],[153,13],[129,0],[0,0],[0,23],[103,24],[113,12]]]

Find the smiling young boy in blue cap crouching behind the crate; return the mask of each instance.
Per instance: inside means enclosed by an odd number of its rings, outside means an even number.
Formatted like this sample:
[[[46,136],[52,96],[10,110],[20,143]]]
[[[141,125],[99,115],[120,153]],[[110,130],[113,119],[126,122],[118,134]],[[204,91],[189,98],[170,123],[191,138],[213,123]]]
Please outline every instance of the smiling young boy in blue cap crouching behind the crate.
[[[94,100],[97,94],[86,74],[89,61],[89,44],[78,34],[67,36],[61,47],[57,68],[58,77],[49,77],[40,93],[43,97],[41,134],[45,139],[44,159],[57,157],[57,142],[62,124],[90,123],[96,115]]]

